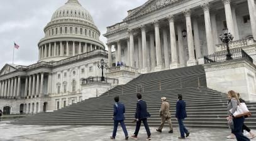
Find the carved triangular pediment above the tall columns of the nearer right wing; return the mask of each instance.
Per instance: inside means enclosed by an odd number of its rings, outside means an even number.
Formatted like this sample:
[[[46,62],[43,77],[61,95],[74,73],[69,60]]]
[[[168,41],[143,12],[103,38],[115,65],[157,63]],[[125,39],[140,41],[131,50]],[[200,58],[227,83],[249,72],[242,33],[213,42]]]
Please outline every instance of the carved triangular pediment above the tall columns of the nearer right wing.
[[[132,11],[131,14],[129,14],[124,20],[126,21],[138,16],[142,16],[152,11],[156,11],[157,9],[164,8],[165,6],[169,6],[170,4],[179,3],[180,1],[182,0],[148,0],[138,9]]]

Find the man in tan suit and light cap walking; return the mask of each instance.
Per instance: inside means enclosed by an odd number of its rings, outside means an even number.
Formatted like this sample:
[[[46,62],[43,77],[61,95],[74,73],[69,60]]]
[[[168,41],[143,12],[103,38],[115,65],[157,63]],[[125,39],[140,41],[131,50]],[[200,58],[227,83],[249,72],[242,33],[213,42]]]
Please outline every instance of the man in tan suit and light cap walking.
[[[170,105],[169,105],[168,102],[166,102],[165,97],[162,97],[161,100],[162,100],[162,105],[161,105],[161,108],[160,108],[159,115],[162,119],[161,119],[160,127],[156,130],[157,130],[157,132],[162,132],[162,128],[164,127],[164,123],[165,123],[165,121],[167,121],[168,124],[169,124],[169,127],[170,127],[169,133],[173,133],[172,121],[170,119],[170,111],[169,111]]]

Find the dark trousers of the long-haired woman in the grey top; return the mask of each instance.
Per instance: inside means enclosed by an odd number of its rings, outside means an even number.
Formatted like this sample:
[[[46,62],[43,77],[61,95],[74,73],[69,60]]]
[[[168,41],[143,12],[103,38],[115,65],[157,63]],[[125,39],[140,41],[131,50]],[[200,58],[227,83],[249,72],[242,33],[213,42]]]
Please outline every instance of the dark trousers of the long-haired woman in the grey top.
[[[245,122],[244,117],[233,118],[234,128],[232,133],[235,134],[237,141],[249,141],[250,139],[245,137],[242,133],[243,122]]]

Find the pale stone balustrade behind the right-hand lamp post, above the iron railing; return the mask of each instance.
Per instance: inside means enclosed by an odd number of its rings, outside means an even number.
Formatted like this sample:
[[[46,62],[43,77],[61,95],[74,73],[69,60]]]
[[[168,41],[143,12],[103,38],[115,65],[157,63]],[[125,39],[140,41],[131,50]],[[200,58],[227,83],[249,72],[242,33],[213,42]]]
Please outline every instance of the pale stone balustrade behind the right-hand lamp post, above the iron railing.
[[[247,38],[247,39],[239,39],[237,41],[232,41],[229,46],[230,49],[233,48],[242,48],[244,46],[250,46],[256,44],[256,41],[253,40],[253,38]],[[223,51],[226,50],[226,44],[216,44],[216,51]]]

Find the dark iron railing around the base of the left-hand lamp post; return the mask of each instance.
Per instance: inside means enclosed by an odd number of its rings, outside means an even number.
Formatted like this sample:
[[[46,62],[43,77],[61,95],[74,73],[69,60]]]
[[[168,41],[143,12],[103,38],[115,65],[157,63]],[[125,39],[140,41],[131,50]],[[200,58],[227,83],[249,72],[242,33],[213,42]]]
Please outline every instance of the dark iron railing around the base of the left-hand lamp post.
[[[89,85],[92,83],[111,83],[113,85],[118,85],[119,81],[115,78],[107,78],[105,77],[104,81],[101,81],[101,76],[94,76],[89,78],[81,79],[81,85]]]

